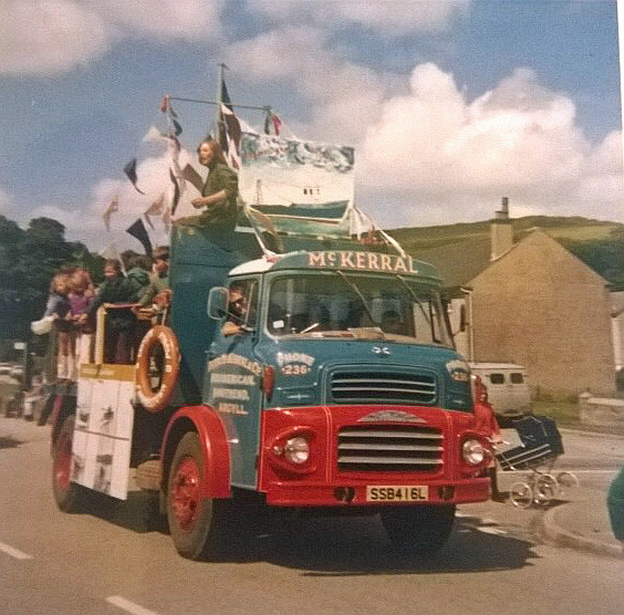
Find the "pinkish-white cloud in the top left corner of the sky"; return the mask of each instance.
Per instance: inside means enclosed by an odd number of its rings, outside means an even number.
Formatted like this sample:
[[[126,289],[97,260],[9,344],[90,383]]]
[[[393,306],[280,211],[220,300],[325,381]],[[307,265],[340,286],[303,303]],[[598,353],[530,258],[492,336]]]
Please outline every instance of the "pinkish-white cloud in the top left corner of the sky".
[[[208,40],[218,0],[3,0],[0,74],[58,74],[105,54],[124,37]]]

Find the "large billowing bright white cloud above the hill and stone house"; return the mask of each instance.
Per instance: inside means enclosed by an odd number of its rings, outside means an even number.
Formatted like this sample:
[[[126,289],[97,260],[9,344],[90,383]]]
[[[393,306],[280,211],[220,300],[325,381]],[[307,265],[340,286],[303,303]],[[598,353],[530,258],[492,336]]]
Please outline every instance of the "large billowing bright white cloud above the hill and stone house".
[[[532,72],[472,102],[434,64],[416,66],[409,84],[384,103],[358,156],[368,194],[402,201],[404,223],[487,218],[503,195],[512,213],[517,202],[517,213],[623,218],[621,133],[592,145],[573,101]]]

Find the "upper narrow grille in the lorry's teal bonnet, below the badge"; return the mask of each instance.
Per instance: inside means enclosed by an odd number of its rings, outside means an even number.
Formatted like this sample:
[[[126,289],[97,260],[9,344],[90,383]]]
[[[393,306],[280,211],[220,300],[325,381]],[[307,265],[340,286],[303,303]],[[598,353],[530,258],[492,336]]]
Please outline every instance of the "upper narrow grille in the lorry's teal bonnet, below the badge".
[[[409,372],[335,372],[331,376],[334,402],[365,404],[433,404],[436,378]]]

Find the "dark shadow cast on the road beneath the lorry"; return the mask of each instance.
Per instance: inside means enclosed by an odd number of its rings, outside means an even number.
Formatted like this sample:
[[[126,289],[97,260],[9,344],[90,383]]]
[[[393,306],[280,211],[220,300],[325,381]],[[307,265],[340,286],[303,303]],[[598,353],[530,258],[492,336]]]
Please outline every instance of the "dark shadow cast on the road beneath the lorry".
[[[157,514],[157,498],[147,492],[131,491],[126,502],[91,493],[87,502],[86,513],[133,532],[167,531],[166,520]],[[269,531],[262,523],[245,523],[232,531],[219,561],[268,562],[305,576],[352,576],[514,570],[538,557],[528,540],[485,533],[477,517],[457,519],[446,546],[427,559],[398,553],[378,517],[282,520]]]

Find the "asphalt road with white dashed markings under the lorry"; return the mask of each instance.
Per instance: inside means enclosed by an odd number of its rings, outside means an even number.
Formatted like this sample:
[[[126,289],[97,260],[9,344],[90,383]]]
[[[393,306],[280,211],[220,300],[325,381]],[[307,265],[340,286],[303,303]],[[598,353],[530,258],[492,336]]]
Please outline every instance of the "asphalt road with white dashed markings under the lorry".
[[[540,513],[505,507],[497,523],[502,504],[464,507],[449,543],[427,562],[394,552],[374,518],[306,521],[288,538],[248,540],[223,562],[189,562],[153,529],[141,492],[121,505],[60,512],[48,431],[0,418],[3,615],[623,612],[624,562],[539,544],[531,522]],[[624,459],[622,450],[611,460],[602,438],[573,435],[566,448],[599,475]]]

